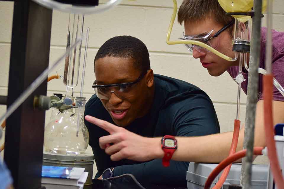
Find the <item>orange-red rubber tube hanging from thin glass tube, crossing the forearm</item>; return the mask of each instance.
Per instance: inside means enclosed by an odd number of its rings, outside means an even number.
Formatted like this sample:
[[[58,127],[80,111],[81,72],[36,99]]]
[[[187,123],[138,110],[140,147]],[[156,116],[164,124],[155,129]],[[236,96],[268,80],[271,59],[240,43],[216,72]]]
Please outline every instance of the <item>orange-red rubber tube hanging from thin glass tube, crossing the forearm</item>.
[[[236,148],[237,148],[237,145],[238,145],[238,139],[239,139],[239,133],[240,133],[240,126],[241,126],[241,121],[235,119],[234,133],[233,133],[233,139],[232,139],[232,144],[231,144],[231,149],[230,149],[230,152],[229,152],[229,156],[236,152]],[[223,171],[220,179],[218,180],[216,185],[213,187],[213,189],[220,189],[220,188],[222,188],[222,186],[225,183],[225,180],[226,180],[226,178],[227,178],[227,176],[228,176],[228,174],[230,172],[231,166],[232,166],[232,163],[229,164],[225,168],[225,170]],[[208,179],[209,179],[209,177],[208,177]]]

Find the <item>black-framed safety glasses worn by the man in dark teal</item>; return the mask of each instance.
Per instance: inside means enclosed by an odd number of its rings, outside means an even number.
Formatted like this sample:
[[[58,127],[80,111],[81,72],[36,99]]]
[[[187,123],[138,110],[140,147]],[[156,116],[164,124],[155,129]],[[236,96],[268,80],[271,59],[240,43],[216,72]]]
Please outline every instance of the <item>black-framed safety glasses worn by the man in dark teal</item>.
[[[135,96],[135,89],[138,89],[138,82],[146,75],[148,71],[141,74],[134,82],[97,85],[96,81],[93,83],[93,88],[99,99],[109,100],[112,93],[117,95],[120,99],[125,99]]]

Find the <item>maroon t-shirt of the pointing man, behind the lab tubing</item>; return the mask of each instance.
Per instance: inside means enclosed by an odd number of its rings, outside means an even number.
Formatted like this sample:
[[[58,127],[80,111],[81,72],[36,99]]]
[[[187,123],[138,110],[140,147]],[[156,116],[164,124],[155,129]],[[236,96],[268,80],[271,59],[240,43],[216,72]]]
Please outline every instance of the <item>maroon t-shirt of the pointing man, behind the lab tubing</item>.
[[[259,67],[265,69],[265,47],[266,47],[266,33],[267,28],[261,28],[261,52]],[[274,78],[284,87],[284,32],[278,32],[272,30],[272,74]],[[230,66],[227,69],[230,76],[235,78],[238,75],[239,66]],[[242,69],[243,76],[246,81],[242,82],[242,89],[247,94],[248,89],[248,71],[245,68]],[[259,74],[259,87],[258,87],[258,99],[263,99],[262,95],[262,74]],[[274,86],[273,99],[278,101],[284,101],[284,97]]]

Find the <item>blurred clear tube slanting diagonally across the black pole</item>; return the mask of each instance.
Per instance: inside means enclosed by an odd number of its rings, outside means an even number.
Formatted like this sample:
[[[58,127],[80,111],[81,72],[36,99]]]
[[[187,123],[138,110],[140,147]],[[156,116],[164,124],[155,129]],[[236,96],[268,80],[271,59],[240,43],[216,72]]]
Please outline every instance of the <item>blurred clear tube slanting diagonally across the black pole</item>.
[[[34,92],[34,90],[42,84],[42,82],[47,78],[48,74],[54,70],[54,68],[62,61],[66,56],[70,53],[72,49],[74,49],[81,41],[84,39],[84,36],[79,37],[74,44],[72,44],[69,48],[66,49],[65,53],[60,56],[55,63],[46,68],[40,76],[38,76],[32,84],[12,103],[12,105],[7,109],[6,113],[1,116],[0,123],[2,123],[6,118],[8,118],[27,98]]]

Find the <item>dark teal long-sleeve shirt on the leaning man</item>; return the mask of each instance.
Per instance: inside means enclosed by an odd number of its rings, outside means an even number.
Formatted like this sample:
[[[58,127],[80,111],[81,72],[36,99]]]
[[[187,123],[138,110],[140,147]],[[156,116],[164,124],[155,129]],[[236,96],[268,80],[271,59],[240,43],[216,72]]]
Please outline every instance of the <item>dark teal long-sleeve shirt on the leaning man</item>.
[[[157,74],[154,74],[154,83],[154,101],[149,113],[134,120],[126,129],[146,137],[202,136],[220,132],[213,103],[204,91],[187,82]],[[85,115],[115,124],[95,94],[86,104]],[[98,170],[95,178],[101,176],[105,169],[115,167],[114,176],[130,173],[141,183],[186,186],[189,162],[171,160],[169,167],[163,167],[161,159],[114,162],[99,147],[99,138],[109,133],[87,121],[85,125]]]

